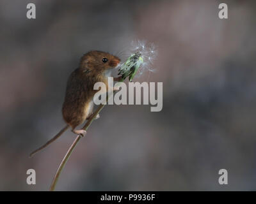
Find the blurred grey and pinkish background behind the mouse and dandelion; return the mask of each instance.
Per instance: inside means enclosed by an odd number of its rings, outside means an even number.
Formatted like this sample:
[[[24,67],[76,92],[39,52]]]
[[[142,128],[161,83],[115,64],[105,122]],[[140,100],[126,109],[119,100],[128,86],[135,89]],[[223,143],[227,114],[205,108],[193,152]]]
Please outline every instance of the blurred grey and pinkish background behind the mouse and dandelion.
[[[68,75],[89,50],[124,53],[132,40],[157,47],[157,72],[136,80],[163,82],[163,110],[106,106],[56,190],[256,190],[256,4],[225,1],[221,20],[220,3],[1,0],[0,190],[49,189],[75,135],[28,155],[63,128]]]

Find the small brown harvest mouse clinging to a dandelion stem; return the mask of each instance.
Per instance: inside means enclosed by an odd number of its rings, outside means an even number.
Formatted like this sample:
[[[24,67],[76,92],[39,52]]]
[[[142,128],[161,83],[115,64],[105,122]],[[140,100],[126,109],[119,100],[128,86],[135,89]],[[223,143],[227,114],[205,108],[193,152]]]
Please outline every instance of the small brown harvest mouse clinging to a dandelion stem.
[[[118,57],[101,51],[90,51],[81,57],[79,68],[75,69],[68,78],[62,106],[63,119],[67,125],[42,147],[33,151],[30,157],[56,140],[69,127],[77,135],[84,136],[86,134],[86,131],[76,129],[76,127],[84,120],[90,119],[93,114],[93,96],[97,92],[97,90],[93,90],[93,86],[97,82],[103,82],[108,90],[109,71],[115,68],[119,62]],[[114,80],[118,81],[120,77],[114,78]],[[99,115],[96,118],[99,118]]]

